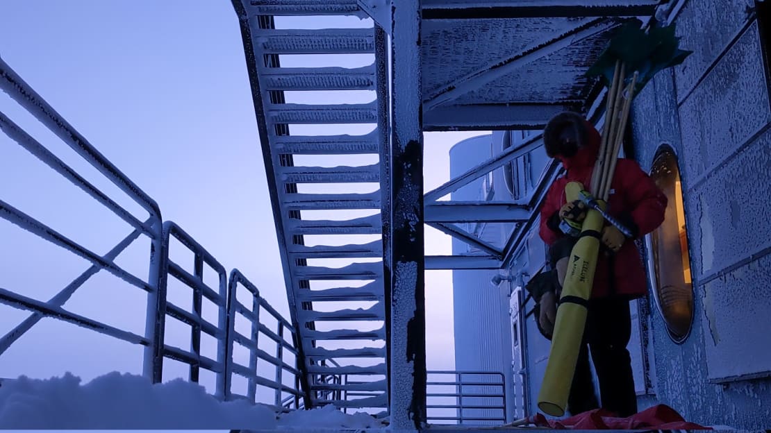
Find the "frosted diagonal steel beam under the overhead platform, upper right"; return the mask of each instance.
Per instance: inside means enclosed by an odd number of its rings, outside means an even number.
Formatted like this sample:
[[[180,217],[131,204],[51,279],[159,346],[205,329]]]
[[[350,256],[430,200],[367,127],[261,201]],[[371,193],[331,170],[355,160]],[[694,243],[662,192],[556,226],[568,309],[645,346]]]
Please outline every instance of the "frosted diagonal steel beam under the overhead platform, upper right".
[[[538,41],[522,52],[517,52],[511,57],[499,59],[483,69],[478,69],[450,82],[444,89],[426,98],[423,102],[427,109],[426,111],[431,111],[434,107],[446,104],[468,92],[481,89],[490,82],[500,80],[511,72],[524,68],[524,66],[532,62],[544,59],[554,54],[554,52],[565,49],[582,39],[611,29],[616,24],[615,21],[605,18],[584,18],[576,22],[575,26],[567,32],[554,35],[553,38],[547,41]],[[428,123],[428,119],[426,119],[426,123]]]

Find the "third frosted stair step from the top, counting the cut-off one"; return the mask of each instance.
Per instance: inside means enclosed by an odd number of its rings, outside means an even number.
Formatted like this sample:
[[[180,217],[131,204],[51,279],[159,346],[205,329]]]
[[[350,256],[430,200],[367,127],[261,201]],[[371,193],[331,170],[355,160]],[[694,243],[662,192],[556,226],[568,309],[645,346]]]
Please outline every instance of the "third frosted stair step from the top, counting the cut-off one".
[[[261,73],[264,90],[374,90],[375,65],[347,69],[268,68]]]

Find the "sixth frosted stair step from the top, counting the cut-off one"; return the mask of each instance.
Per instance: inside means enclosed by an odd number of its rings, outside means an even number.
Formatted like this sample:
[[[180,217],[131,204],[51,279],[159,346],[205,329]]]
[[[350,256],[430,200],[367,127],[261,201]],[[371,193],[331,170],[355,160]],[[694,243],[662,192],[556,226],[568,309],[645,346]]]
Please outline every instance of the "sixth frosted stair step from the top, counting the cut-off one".
[[[285,183],[380,182],[380,166],[276,167],[278,179]]]

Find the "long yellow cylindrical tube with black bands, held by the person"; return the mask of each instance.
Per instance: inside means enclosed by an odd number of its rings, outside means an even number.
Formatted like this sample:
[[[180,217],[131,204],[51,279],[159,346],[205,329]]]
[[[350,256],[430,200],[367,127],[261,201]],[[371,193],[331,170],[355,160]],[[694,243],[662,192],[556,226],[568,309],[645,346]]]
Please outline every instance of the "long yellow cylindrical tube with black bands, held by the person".
[[[604,203],[600,206],[604,208]],[[588,210],[581,237],[568,258],[549,360],[538,394],[538,408],[548,415],[562,416],[565,413],[586,324],[587,309],[581,300],[588,300],[591,296],[602,226],[600,213]]]

